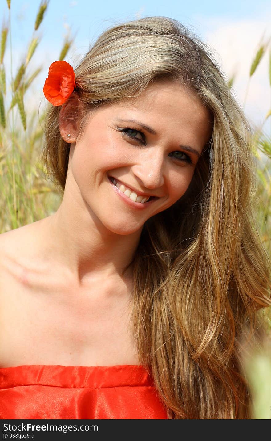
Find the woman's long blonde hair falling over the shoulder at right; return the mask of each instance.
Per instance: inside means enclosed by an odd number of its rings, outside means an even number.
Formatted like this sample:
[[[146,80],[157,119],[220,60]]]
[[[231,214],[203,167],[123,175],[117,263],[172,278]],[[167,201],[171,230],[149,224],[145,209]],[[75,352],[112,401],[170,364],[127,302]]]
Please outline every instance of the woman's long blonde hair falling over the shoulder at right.
[[[139,363],[168,419],[249,419],[240,357],[261,341],[271,305],[270,260],[253,221],[251,128],[209,48],[178,21],[146,17],[107,29],[75,69],[80,134],[92,108],[179,81],[213,116],[187,192],[144,224],[133,262],[132,323]],[[70,145],[51,106],[42,159],[65,188]],[[80,137],[79,134],[79,137]]]

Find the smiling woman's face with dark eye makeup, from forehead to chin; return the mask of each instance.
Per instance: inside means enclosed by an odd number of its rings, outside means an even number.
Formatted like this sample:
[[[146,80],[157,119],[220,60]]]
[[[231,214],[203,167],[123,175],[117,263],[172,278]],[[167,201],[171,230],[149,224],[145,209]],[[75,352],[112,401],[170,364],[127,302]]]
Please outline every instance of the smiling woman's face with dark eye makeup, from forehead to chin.
[[[133,103],[95,111],[71,145],[68,178],[95,221],[131,234],[187,191],[211,133],[198,97],[179,84],[157,82]],[[136,202],[140,196],[151,198]]]

